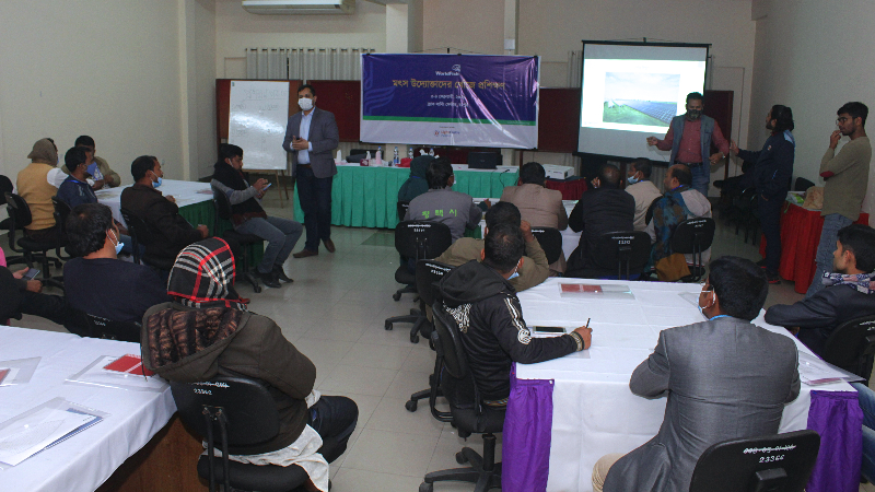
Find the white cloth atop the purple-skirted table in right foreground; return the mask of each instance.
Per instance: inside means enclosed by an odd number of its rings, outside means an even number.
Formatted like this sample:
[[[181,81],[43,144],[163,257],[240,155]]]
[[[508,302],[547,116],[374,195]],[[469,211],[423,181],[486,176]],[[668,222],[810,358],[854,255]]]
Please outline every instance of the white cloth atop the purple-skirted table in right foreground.
[[[634,300],[597,294],[590,298],[560,297],[559,283],[628,285]],[[590,350],[516,365],[521,379],[556,382],[548,491],[591,491],[598,458],[608,453],[629,453],[656,435],[666,399],[632,395],[629,378],[652,353],[661,330],[704,320],[688,301],[696,300],[700,291],[698,284],[548,279],[517,294],[529,326],[578,327],[592,318]],[[763,323],[761,315],[754,323],[790,337],[785,329]],[[800,350],[808,351],[795,341]],[[803,384],[800,397],[784,408],[780,432],[806,429],[812,389]],[[845,383],[815,389],[853,390]]]

